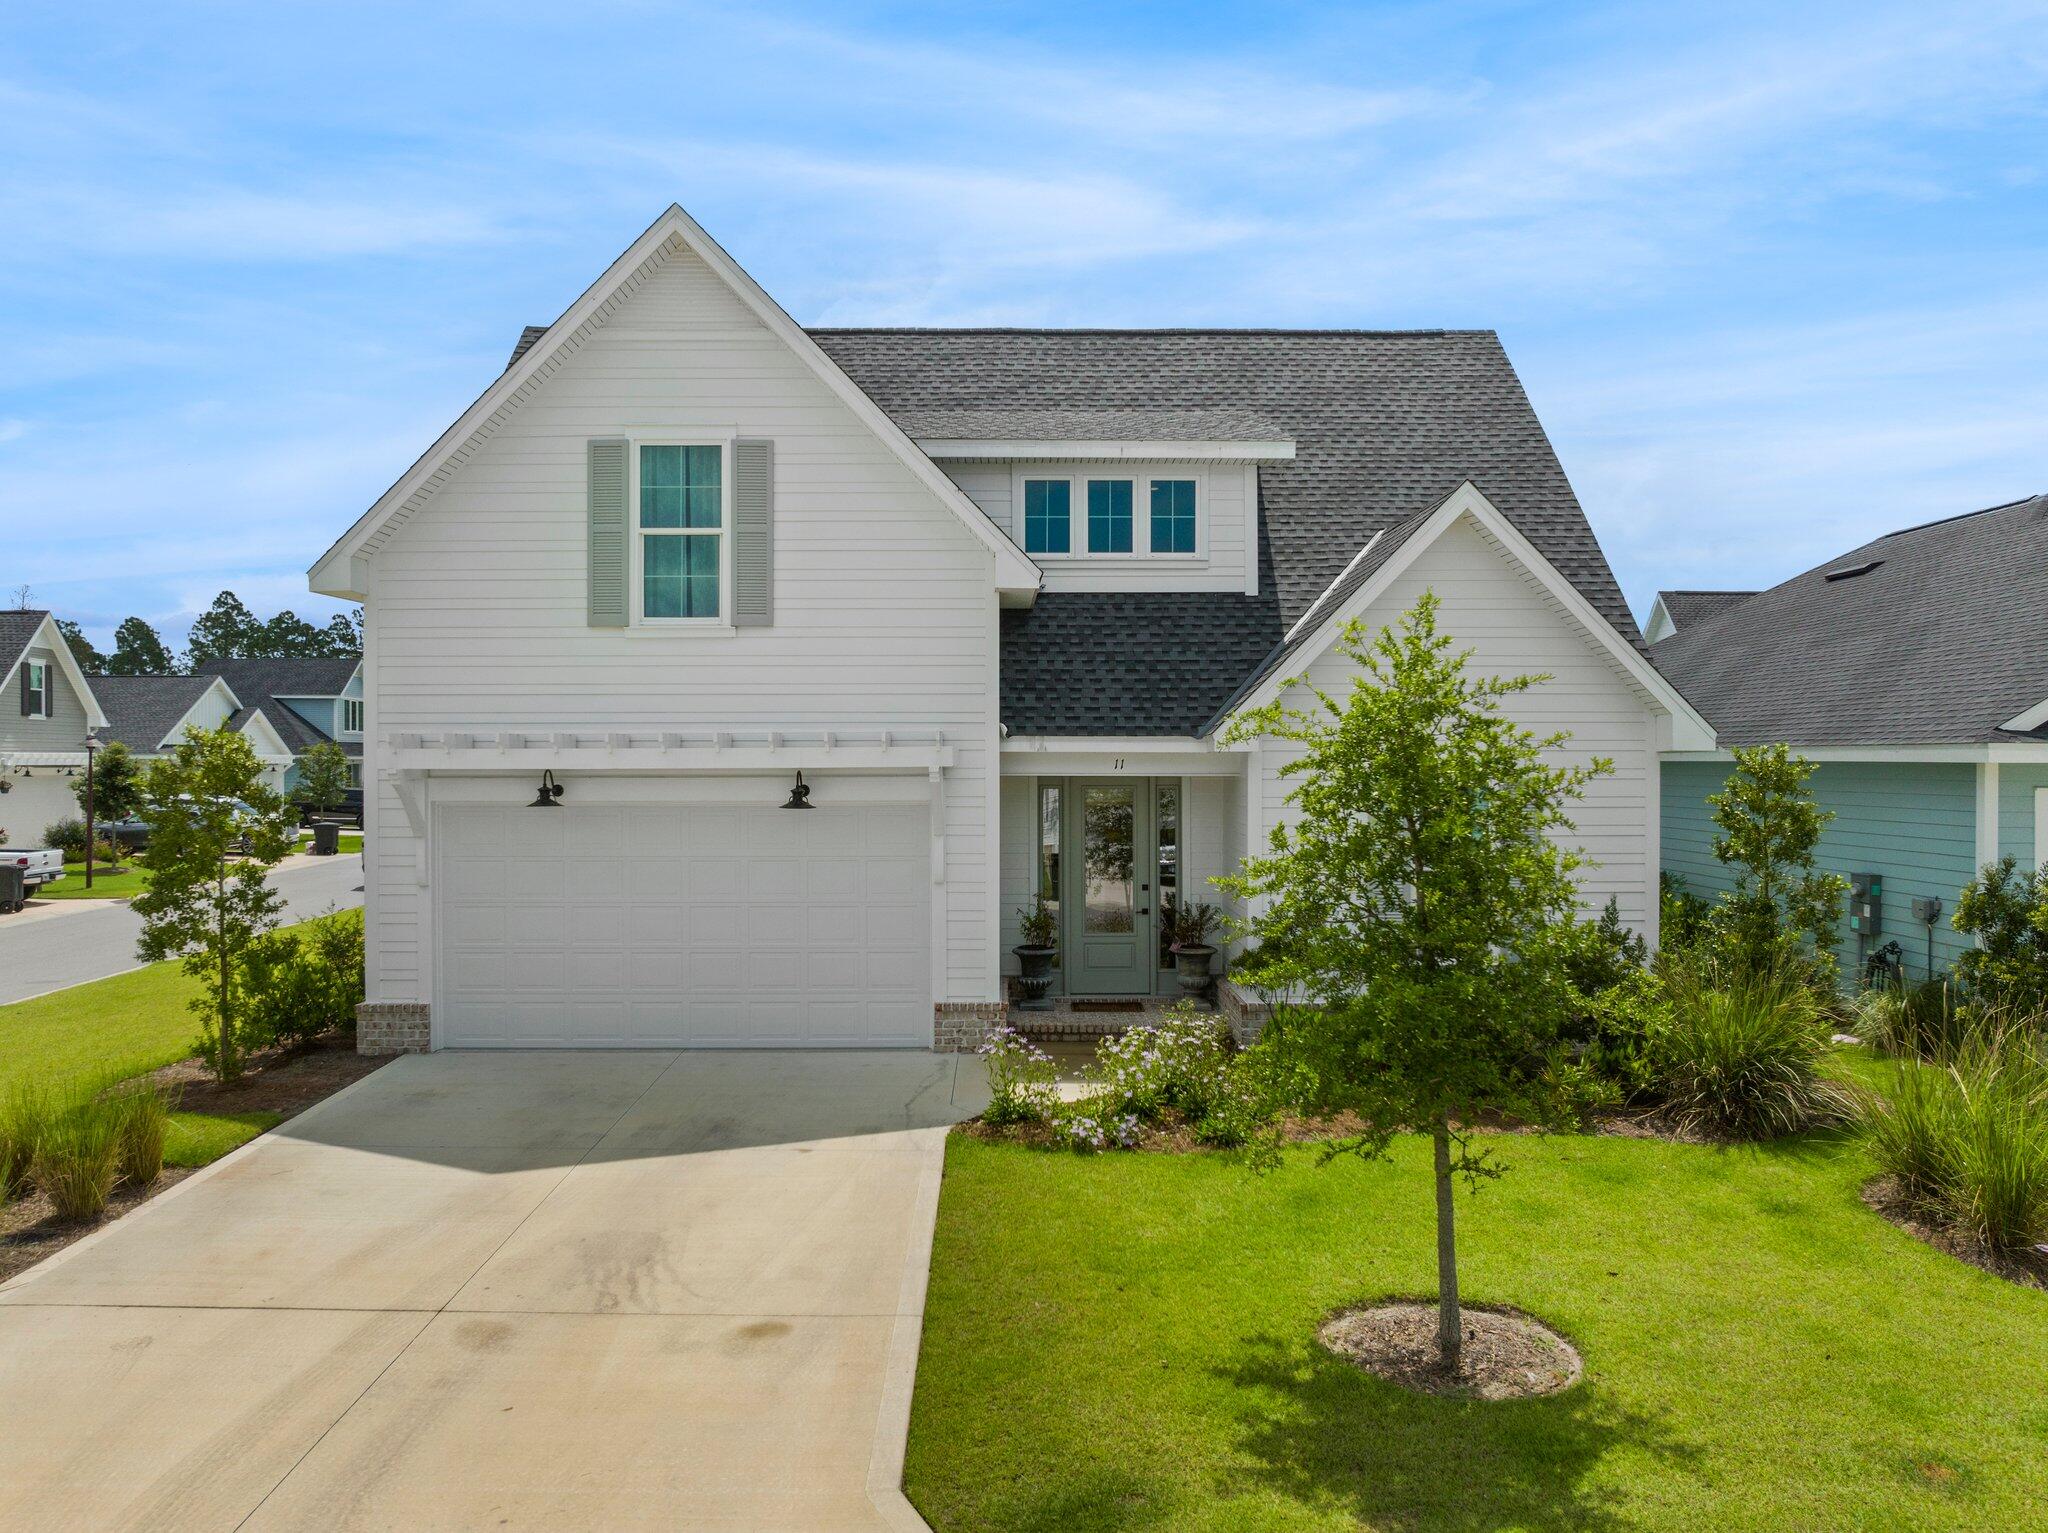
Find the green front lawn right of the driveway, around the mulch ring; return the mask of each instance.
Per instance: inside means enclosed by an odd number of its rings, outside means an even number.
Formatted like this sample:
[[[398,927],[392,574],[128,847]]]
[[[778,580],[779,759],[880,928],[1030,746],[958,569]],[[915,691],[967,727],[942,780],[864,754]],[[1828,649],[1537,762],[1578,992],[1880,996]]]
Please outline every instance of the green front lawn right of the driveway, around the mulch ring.
[[[952,1136],[911,1500],[942,1533],[2038,1523],[2048,1294],[1870,1214],[1853,1142],[1497,1152],[1458,1195],[1464,1291],[1579,1345],[1548,1400],[1415,1396],[1313,1341],[1434,1294],[1421,1140],[1257,1177]]]

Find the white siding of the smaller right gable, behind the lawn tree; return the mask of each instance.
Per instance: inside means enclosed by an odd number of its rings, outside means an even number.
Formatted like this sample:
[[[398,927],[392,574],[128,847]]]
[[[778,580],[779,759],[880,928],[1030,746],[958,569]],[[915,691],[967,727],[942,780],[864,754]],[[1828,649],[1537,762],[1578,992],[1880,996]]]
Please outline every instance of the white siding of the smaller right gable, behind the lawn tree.
[[[1589,913],[1608,899],[1622,919],[1651,931],[1657,907],[1651,796],[1657,792],[1655,704],[1620,665],[1475,524],[1458,522],[1417,557],[1364,614],[1368,628],[1399,622],[1421,594],[1438,596],[1438,628],[1456,649],[1473,651],[1466,665],[1481,675],[1546,673],[1548,682],[1507,698],[1507,712],[1538,735],[1569,731],[1556,761],[1583,765],[1610,757],[1614,772],[1595,778],[1573,806],[1573,841],[1591,860],[1579,870]],[[1309,680],[1339,702],[1350,694],[1354,665],[1337,651],[1309,667]],[[1300,700],[1305,694],[1296,694]],[[1262,745],[1257,761],[1260,815],[1253,825],[1264,849],[1268,829],[1290,813],[1290,778],[1280,768],[1296,755]]]

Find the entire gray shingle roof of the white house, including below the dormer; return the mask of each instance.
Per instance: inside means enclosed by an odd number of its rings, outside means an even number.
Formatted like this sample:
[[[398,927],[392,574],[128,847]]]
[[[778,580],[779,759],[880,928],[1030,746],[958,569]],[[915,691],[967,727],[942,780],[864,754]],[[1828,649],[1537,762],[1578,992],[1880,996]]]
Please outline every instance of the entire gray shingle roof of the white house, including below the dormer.
[[[541,334],[528,325],[512,360]],[[1491,330],[809,334],[913,438],[1294,442],[1292,461],[1260,465],[1257,596],[1040,592],[1001,614],[1012,733],[1192,733],[1374,532],[1466,479],[1642,643]]]

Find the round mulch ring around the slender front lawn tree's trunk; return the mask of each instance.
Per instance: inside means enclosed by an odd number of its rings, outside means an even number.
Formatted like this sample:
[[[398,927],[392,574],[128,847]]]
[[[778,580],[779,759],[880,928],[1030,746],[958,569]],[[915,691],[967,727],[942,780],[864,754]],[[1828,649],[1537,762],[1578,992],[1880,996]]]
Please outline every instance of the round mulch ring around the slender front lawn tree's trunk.
[[[1317,1341],[1374,1377],[1419,1394],[1464,1400],[1534,1400],[1569,1390],[1585,1373],[1561,1334],[1507,1306],[1464,1306],[1458,1373],[1438,1365],[1436,1300],[1389,1300],[1337,1310]]]

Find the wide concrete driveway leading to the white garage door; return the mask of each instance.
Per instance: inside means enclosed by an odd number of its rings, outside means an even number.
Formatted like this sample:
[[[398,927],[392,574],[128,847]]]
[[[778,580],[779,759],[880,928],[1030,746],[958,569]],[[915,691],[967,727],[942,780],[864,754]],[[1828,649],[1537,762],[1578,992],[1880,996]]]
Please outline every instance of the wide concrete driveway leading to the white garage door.
[[[401,1058],[0,1287],[0,1527],[885,1529],[973,1058]]]

